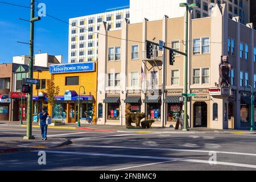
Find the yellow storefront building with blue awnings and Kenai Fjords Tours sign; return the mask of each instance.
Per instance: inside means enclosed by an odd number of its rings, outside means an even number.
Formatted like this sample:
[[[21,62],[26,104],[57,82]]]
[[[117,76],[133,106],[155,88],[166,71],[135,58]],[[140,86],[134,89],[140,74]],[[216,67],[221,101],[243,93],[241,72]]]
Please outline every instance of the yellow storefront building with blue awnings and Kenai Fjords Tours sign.
[[[47,80],[53,76],[59,94],[55,104],[49,105]],[[75,123],[96,123],[97,113],[97,62],[51,65],[48,71],[35,71],[34,78],[39,80],[33,87],[34,122],[43,108],[55,121]]]

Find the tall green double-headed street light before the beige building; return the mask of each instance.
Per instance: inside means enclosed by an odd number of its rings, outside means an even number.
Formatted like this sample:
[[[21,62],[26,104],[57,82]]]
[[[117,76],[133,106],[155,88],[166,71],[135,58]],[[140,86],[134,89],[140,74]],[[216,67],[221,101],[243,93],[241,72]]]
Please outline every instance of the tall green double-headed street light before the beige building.
[[[185,81],[184,81],[184,129],[183,131],[188,131],[187,129],[187,118],[188,118],[188,11],[189,9],[198,7],[196,3],[189,5],[188,3],[180,3],[180,7],[186,7],[186,29],[185,29]]]

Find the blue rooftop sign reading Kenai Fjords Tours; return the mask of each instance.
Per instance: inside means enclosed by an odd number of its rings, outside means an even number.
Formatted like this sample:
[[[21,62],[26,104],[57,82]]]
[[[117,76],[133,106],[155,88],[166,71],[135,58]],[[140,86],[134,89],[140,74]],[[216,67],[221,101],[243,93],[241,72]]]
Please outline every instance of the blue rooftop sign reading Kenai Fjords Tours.
[[[49,73],[93,72],[95,63],[55,64],[49,66]]]

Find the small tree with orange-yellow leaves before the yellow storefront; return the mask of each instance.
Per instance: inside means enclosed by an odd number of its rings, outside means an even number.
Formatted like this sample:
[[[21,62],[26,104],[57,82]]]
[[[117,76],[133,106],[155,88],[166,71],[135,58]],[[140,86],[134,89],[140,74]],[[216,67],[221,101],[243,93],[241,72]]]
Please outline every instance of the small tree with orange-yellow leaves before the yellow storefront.
[[[46,81],[46,94],[48,97],[48,104],[52,107],[55,105],[55,97],[59,95],[60,88],[55,86],[54,76],[51,76],[51,79]]]

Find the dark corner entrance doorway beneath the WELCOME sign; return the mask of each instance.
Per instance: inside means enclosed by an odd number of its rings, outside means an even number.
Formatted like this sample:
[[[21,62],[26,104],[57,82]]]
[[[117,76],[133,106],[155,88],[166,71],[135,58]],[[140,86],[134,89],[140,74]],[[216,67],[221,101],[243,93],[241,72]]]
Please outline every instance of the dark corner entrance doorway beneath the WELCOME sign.
[[[205,102],[194,104],[194,127],[207,127],[207,104]]]

